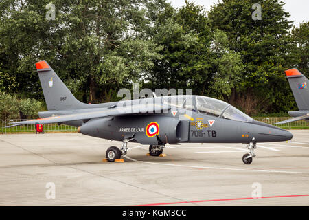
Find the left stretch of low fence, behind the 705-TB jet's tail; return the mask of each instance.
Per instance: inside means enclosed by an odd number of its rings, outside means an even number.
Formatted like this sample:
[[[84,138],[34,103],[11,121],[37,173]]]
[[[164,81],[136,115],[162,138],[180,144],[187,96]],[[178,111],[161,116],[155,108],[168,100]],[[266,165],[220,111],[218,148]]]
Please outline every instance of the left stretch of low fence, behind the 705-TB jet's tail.
[[[25,120],[30,120],[30,119],[25,119]],[[21,122],[24,120],[21,119],[10,119],[10,120],[5,120],[5,121],[0,121],[2,122],[1,124],[1,128],[0,128],[0,133],[35,133],[35,128],[34,128],[34,124],[24,124],[22,126],[13,126],[10,128],[5,128],[5,126],[10,126],[12,124],[12,122]],[[44,124],[43,125],[43,129],[45,132],[55,132],[55,131],[59,131],[59,132],[64,132],[64,131],[68,131],[68,132],[73,132],[73,131],[77,131],[77,128],[74,126],[68,126],[65,124]]]

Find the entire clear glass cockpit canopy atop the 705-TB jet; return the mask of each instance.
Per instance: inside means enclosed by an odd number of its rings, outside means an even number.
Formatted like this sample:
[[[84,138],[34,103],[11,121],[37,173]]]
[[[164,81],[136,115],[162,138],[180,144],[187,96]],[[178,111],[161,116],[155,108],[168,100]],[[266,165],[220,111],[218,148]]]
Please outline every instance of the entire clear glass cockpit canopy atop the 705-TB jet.
[[[239,122],[253,121],[252,118],[231,106],[231,104],[207,96],[164,96],[163,103],[170,104],[172,107],[182,107],[190,111],[197,111],[213,117]]]

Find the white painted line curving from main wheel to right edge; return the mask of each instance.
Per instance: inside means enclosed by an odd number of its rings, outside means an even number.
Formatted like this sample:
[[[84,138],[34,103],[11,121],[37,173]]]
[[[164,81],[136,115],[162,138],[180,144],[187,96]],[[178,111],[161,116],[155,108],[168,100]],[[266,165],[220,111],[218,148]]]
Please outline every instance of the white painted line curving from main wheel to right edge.
[[[295,174],[309,174],[308,172],[297,172],[297,171],[284,171],[284,170],[253,170],[253,169],[240,169],[240,168],[225,168],[225,167],[213,167],[213,166],[190,166],[190,165],[181,165],[181,164],[165,164],[165,163],[157,163],[157,162],[146,162],[137,159],[133,159],[124,155],[126,159],[130,159],[133,162],[139,162],[143,164],[155,164],[162,166],[179,166],[186,168],[205,168],[205,169],[213,169],[213,170],[233,170],[233,171],[244,171],[244,172],[260,172],[260,173],[295,173]]]

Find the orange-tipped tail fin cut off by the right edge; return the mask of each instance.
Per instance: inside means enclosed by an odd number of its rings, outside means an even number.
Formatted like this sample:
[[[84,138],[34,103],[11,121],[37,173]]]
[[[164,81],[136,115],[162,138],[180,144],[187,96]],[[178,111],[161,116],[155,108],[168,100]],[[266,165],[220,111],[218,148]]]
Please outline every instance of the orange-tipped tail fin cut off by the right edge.
[[[285,71],[290,88],[293,91],[295,101],[299,110],[309,109],[309,89],[308,79],[301,74],[298,69],[288,69]]]

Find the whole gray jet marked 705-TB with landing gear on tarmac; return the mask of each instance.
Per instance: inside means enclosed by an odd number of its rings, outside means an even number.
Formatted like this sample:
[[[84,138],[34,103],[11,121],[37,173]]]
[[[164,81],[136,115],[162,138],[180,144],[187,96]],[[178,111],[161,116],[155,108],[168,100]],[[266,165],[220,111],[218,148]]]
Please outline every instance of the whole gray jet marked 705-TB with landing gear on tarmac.
[[[127,153],[128,142],[149,144],[151,156],[163,153],[165,144],[244,143],[249,153],[242,157],[251,164],[257,142],[290,140],[284,129],[250,118],[235,107],[206,96],[159,96],[104,104],[78,101],[46,61],[36,63],[48,111],[42,119],[21,124],[68,124],[84,135],[122,141],[122,148],[106,151],[109,161]]]

